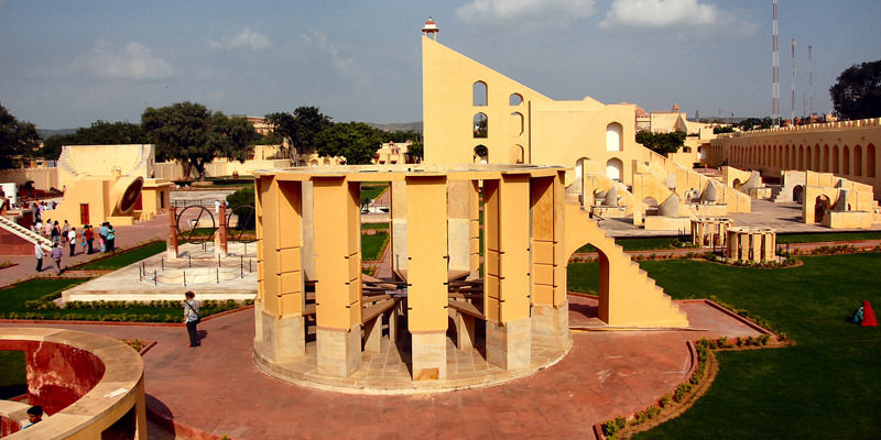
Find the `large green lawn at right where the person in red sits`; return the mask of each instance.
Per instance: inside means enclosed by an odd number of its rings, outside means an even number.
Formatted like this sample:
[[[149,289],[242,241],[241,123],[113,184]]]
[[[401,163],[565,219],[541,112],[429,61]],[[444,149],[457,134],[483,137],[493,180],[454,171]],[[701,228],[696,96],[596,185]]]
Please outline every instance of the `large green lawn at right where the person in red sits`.
[[[638,439],[881,438],[881,328],[846,317],[863,299],[881,306],[881,254],[804,257],[759,270],[676,260],[641,266],[674,298],[747,309],[795,346],[720,352],[720,373],[684,416]],[[596,264],[570,264],[572,289],[596,289]]]

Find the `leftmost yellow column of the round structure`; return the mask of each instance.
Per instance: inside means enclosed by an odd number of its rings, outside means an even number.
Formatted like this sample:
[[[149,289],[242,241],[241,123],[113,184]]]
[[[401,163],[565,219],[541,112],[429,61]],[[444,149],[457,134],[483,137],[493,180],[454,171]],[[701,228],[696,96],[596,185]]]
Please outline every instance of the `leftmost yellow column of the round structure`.
[[[306,351],[303,322],[302,200],[300,182],[257,182],[258,301],[254,345],[282,363]]]

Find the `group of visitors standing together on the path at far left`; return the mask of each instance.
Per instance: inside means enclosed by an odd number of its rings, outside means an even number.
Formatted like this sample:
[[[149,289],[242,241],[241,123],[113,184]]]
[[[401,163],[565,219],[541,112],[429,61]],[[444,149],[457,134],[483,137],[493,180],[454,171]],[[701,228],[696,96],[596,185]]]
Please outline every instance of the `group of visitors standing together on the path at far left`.
[[[77,242],[83,248],[83,252],[85,252],[87,255],[90,255],[95,252],[96,233],[91,224],[86,224],[83,227],[81,232],[77,234],[76,228],[70,227],[67,220],[64,221],[64,226],[62,227],[58,224],[57,220],[52,222],[52,219],[46,219],[45,226],[41,224],[40,220],[37,220],[36,223],[34,223],[34,230],[41,234],[50,237],[50,240],[52,241],[52,251],[50,251],[50,257],[52,257],[52,260],[55,262],[55,267],[58,271],[58,274],[62,273],[64,244],[67,244],[70,250],[69,256],[74,256],[76,254]],[[101,227],[98,229],[97,240],[101,253],[116,251],[117,233],[110,222],[105,221],[101,223]],[[36,272],[42,272],[45,251],[39,243],[34,244],[34,256],[36,256]]]

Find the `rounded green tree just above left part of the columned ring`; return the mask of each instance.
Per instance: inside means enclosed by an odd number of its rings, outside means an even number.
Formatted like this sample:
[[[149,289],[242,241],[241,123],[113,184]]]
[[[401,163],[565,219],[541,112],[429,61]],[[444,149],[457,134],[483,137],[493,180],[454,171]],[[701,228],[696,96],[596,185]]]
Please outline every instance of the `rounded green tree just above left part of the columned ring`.
[[[382,135],[363,122],[335,123],[315,138],[322,156],[345,156],[349,165],[370,164]]]

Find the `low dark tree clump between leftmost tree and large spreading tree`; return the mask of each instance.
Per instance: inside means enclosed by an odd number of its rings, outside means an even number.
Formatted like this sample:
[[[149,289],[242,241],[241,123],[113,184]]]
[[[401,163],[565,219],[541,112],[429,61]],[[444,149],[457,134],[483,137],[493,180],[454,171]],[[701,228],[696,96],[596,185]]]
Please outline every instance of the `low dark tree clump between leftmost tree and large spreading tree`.
[[[143,144],[146,142],[146,135],[139,123],[97,120],[90,127],[77,129],[73,134],[55,134],[46,138],[43,147],[37,150],[36,155],[45,158],[58,158],[64,145]]]

